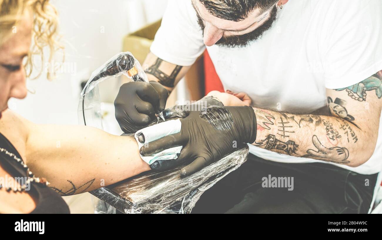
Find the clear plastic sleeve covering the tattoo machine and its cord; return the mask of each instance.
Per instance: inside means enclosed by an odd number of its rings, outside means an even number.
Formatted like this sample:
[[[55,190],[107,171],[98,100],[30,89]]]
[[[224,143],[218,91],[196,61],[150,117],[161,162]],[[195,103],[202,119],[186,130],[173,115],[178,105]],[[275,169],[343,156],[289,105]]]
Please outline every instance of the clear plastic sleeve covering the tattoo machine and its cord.
[[[133,81],[148,82],[141,64],[131,52],[116,54],[93,71],[81,92],[78,104],[78,120],[80,124],[103,129],[98,84],[121,75],[125,75]]]

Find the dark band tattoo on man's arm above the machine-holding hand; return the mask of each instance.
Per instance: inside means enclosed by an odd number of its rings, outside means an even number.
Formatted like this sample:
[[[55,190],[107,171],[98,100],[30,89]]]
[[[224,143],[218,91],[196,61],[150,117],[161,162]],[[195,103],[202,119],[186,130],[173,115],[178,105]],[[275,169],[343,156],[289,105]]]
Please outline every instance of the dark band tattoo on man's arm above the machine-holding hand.
[[[176,65],[173,71],[168,75],[164,73],[163,71],[159,70],[162,62],[163,62],[162,59],[157,58],[155,63],[149,66],[149,68],[147,68],[145,72],[155,76],[158,79],[159,83],[162,84],[163,86],[173,88],[176,76],[178,76],[183,66]]]

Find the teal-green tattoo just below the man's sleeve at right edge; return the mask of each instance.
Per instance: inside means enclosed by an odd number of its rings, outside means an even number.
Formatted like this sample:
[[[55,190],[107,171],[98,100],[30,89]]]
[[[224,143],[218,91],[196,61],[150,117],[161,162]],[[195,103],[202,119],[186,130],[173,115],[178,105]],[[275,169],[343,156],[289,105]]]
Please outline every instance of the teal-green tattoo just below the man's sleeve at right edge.
[[[347,88],[336,89],[336,91],[346,90],[348,96],[357,101],[366,101],[366,91],[374,91],[378,98],[382,97],[382,70],[366,78],[365,80],[348,86]]]

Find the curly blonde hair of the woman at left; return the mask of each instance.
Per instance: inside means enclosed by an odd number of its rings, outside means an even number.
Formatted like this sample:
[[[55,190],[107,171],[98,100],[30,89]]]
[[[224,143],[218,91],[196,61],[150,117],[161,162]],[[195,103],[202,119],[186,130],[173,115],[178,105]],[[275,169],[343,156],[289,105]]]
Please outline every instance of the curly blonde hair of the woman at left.
[[[29,78],[36,68],[34,57],[39,57],[41,63],[44,63],[44,50],[49,48],[50,62],[57,50],[63,50],[63,46],[59,43],[60,35],[57,32],[57,10],[49,0],[0,0],[0,45],[10,38],[12,30],[27,9],[33,14],[32,46],[24,65]],[[34,78],[38,78],[42,70],[43,64]],[[54,73],[48,71],[47,78],[54,78]]]

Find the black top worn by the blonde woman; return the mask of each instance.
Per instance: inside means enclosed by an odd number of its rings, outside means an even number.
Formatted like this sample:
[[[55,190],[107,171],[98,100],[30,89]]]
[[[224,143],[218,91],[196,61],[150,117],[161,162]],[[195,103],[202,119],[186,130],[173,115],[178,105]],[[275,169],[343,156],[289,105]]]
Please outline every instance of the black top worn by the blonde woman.
[[[8,152],[15,154],[21,159],[18,151],[2,133],[0,133],[0,148],[5,148]],[[0,162],[11,169],[13,177],[27,177],[26,171],[21,164],[13,158],[0,154]],[[29,193],[37,199],[36,208],[31,213],[70,213],[69,207],[62,197],[49,186],[42,186],[34,182],[30,186]]]

